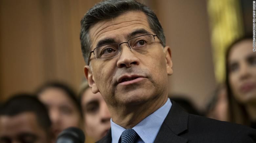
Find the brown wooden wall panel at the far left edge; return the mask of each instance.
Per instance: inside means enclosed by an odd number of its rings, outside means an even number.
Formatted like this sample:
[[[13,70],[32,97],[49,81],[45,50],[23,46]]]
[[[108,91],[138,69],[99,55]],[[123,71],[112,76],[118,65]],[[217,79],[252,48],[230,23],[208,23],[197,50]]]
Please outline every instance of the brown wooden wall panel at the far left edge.
[[[0,3],[1,98],[31,91],[43,81],[40,1]]]

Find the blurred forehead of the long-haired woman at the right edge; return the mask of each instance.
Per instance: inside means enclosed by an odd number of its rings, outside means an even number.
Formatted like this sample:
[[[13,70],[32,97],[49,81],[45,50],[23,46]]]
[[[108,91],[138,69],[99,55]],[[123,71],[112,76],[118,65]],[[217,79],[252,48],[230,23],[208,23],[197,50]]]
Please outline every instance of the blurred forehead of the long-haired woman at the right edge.
[[[243,40],[232,47],[229,60],[243,60],[253,53],[256,55],[256,53],[252,51],[252,40]]]

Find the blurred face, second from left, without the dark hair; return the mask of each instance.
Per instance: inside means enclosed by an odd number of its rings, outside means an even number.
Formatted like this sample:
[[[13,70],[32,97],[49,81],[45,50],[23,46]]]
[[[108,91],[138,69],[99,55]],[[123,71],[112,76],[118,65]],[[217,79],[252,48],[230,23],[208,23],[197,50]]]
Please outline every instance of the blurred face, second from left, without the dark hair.
[[[49,87],[39,94],[39,100],[48,107],[55,137],[68,127],[79,127],[79,111],[62,89]]]

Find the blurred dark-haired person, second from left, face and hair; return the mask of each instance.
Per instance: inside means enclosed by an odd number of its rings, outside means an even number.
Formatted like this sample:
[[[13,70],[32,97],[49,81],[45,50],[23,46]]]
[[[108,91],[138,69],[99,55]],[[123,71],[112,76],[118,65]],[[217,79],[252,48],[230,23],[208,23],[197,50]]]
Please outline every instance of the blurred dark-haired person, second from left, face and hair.
[[[49,110],[55,138],[68,127],[80,128],[81,106],[75,92],[69,86],[60,82],[50,82],[40,87],[36,94]]]

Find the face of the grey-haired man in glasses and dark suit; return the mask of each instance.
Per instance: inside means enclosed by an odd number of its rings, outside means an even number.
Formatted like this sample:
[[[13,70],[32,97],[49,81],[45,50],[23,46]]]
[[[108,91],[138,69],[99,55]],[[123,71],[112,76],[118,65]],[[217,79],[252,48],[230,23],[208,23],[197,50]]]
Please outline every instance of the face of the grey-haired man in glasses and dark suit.
[[[89,33],[91,51],[102,40],[122,43],[140,35],[155,34],[141,11],[129,11],[100,21],[91,26]],[[100,91],[106,103],[112,106],[140,104],[167,95],[167,75],[173,72],[170,48],[163,48],[158,38],[147,50],[132,51],[127,43],[120,46],[122,52],[116,57],[104,60],[96,60],[93,54],[90,57],[92,71],[85,66],[85,74],[92,91]]]

